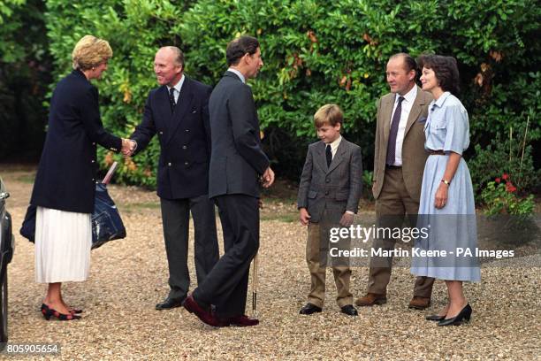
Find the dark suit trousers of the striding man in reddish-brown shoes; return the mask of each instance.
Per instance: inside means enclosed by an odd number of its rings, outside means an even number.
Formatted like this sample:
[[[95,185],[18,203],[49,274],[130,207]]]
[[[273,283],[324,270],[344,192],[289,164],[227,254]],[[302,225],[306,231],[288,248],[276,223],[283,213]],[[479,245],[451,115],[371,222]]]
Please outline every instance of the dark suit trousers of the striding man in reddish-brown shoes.
[[[224,256],[208,277],[194,290],[202,305],[216,305],[222,318],[244,314],[250,262],[259,249],[259,207],[257,198],[245,195],[217,196]]]

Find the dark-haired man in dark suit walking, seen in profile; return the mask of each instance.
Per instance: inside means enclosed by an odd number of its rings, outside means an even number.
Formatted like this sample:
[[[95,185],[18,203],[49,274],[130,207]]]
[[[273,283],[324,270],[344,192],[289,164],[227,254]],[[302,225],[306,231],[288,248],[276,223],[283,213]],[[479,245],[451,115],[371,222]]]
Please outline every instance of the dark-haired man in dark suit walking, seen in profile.
[[[263,61],[259,42],[251,36],[230,42],[226,57],[229,69],[209,101],[209,196],[220,211],[225,254],[184,307],[211,326],[255,326],[259,321],[248,319],[244,311],[249,266],[259,248],[259,181],[270,187],[274,173],[261,149],[254,97],[245,82],[255,78]]]

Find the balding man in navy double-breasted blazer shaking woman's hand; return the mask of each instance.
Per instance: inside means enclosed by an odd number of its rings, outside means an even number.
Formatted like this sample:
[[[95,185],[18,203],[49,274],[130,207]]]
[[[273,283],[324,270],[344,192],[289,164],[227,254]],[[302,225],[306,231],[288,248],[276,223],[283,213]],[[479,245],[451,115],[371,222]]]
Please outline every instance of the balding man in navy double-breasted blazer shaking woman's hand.
[[[154,134],[161,146],[157,195],[164,225],[169,264],[169,296],[156,310],[179,307],[187,296],[189,213],[194,219],[195,271],[201,283],[219,257],[214,203],[209,200],[211,88],[184,75],[179,48],[157,51],[154,72],[161,85],[150,91],[143,120],[131,135],[136,151]]]

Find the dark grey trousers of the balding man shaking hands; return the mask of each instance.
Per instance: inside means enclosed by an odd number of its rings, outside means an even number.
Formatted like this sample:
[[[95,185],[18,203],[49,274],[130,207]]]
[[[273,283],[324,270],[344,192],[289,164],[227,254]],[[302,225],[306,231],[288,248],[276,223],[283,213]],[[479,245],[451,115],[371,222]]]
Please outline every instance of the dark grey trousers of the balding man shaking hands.
[[[169,296],[184,298],[190,287],[187,267],[190,211],[194,219],[194,258],[198,284],[207,277],[219,257],[214,203],[209,196],[203,195],[184,199],[162,198],[160,204],[169,264]]]

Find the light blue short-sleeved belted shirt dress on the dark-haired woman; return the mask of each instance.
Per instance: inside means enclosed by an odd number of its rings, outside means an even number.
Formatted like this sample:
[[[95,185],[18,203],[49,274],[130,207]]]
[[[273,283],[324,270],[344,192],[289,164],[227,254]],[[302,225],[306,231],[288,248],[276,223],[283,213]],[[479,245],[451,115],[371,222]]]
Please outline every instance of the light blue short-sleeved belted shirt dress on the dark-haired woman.
[[[428,236],[415,240],[411,273],[440,280],[480,281],[476,207],[468,165],[463,158],[448,188],[445,207],[437,209],[434,205],[448,154],[462,154],[469,146],[468,111],[456,96],[445,92],[431,102],[424,134],[426,150],[444,150],[446,155],[431,155],[424,166],[417,227],[427,229]]]

